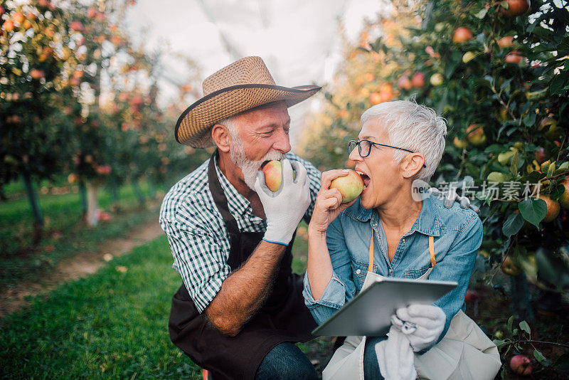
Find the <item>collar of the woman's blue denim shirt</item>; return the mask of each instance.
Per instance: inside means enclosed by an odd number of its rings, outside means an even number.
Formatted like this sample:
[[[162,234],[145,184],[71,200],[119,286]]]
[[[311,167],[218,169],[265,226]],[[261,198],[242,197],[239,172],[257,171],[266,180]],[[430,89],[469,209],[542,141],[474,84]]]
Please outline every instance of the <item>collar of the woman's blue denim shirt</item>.
[[[359,199],[355,204],[346,209],[344,213],[346,213],[346,216],[363,223],[370,221],[372,217],[379,220],[377,211],[375,209],[364,209],[361,206]],[[405,233],[404,236],[409,236],[415,231],[427,236],[440,236],[444,227],[445,224],[442,222],[442,218],[440,218],[437,206],[434,204],[431,196],[427,196],[422,201],[422,208],[418,218],[415,220],[415,223],[413,223],[413,226],[408,233]]]

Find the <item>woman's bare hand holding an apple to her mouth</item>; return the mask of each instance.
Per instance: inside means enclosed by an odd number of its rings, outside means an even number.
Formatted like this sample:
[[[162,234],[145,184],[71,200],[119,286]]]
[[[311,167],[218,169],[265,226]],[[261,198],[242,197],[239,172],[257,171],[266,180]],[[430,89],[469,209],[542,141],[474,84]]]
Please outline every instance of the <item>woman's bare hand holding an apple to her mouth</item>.
[[[308,226],[309,231],[314,233],[326,233],[326,229],[330,223],[334,221],[336,216],[356,201],[357,198],[349,203],[343,204],[340,191],[338,189],[330,189],[331,181],[334,181],[334,179],[340,176],[347,176],[348,173],[349,169],[335,169],[322,173],[320,191],[318,192],[312,218]]]

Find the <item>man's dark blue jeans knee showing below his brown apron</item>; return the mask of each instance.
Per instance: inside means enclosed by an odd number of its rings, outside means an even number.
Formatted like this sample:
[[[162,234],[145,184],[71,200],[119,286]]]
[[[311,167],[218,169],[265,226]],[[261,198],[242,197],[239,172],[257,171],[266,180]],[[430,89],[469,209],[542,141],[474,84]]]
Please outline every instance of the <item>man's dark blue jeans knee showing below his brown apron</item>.
[[[290,342],[277,344],[262,360],[255,380],[317,379],[316,369],[300,349]]]

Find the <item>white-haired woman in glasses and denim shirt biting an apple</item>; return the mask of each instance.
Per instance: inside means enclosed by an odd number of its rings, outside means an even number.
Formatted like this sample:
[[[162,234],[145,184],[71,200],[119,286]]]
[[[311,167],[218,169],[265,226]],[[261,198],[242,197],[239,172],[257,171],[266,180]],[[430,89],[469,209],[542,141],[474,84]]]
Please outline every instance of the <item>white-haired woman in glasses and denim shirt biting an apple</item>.
[[[374,278],[456,281],[434,305],[409,305],[392,317],[388,337],[348,337],[324,379],[494,379],[496,346],[464,314],[464,295],[482,243],[477,213],[447,209],[434,196],[417,199],[415,179],[429,181],[445,149],[447,126],[433,110],[410,101],[383,102],[361,116],[349,143],[364,189],[341,204],[322,174],[309,223],[304,298],[320,324]],[[414,332],[402,331],[415,324]]]

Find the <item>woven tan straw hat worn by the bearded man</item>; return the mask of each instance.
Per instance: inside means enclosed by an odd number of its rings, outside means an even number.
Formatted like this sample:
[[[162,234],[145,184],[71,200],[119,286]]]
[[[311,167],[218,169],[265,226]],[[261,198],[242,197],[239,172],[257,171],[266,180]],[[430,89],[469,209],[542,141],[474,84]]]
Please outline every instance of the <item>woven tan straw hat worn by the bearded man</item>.
[[[176,122],[176,141],[195,148],[211,147],[211,127],[216,122],[277,100],[285,100],[290,107],[319,90],[317,85],[293,88],[275,85],[260,57],[240,59],[203,81],[203,97]]]

